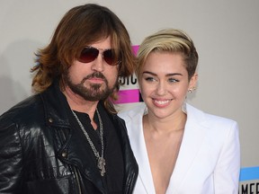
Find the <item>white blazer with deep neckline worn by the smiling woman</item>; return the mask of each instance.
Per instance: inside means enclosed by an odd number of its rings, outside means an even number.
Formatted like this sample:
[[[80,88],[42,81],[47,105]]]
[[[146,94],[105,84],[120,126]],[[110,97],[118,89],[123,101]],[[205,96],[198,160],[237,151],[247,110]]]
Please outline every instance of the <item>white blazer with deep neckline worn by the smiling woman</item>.
[[[126,122],[138,162],[134,194],[156,194],[142,128],[145,109],[143,103],[119,113]],[[240,170],[237,122],[204,113],[189,104],[186,111],[183,141],[166,194],[237,194]]]

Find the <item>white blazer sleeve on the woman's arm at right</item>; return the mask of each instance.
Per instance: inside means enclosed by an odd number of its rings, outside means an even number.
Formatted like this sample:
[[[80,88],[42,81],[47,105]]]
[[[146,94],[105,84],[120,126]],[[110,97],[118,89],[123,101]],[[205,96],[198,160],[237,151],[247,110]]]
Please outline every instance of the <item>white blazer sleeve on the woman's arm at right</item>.
[[[228,128],[214,172],[215,194],[237,194],[240,172],[240,143],[237,122]]]

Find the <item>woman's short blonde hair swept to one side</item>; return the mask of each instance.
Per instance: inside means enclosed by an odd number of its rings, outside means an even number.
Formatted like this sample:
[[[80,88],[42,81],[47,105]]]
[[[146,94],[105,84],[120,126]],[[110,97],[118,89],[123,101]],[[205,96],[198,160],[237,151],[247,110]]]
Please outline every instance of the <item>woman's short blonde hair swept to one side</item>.
[[[192,39],[184,31],[165,29],[151,34],[140,44],[138,48],[138,65],[135,70],[138,80],[148,55],[154,51],[182,54],[189,80],[194,75],[199,56]]]

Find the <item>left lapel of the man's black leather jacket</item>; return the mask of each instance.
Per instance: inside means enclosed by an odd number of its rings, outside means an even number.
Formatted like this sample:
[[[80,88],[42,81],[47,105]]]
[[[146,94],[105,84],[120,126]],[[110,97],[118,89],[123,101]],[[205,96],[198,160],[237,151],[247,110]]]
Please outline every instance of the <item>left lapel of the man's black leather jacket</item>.
[[[90,145],[86,144],[82,134],[70,125],[68,114],[72,112],[66,97],[60,91],[58,80],[41,93],[40,97],[44,104],[46,124],[52,128],[61,129],[61,134],[64,134],[63,144],[58,149],[58,158],[64,163],[75,165],[86,179],[92,181],[105,193],[100,172],[96,170],[96,163],[92,160],[92,156],[89,157],[93,154]]]

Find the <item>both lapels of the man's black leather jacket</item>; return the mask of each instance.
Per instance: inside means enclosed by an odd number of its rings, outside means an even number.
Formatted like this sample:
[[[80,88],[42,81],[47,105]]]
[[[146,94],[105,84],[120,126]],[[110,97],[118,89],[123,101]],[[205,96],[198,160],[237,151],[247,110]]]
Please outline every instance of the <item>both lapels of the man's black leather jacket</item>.
[[[58,158],[65,163],[76,165],[85,178],[92,181],[103,193],[106,193],[101,174],[96,169],[96,163],[92,160],[92,157],[89,157],[90,154],[93,154],[90,145],[82,138],[82,134],[78,133],[78,130],[75,130],[70,125],[68,114],[72,114],[72,112],[66,97],[60,92],[58,80],[50,85],[49,89],[41,93],[40,97],[44,104],[47,125],[60,128],[63,133],[65,131],[67,133],[64,137],[63,145],[58,150]],[[98,106],[103,105],[99,103]],[[133,189],[133,184],[137,180],[138,164],[129,145],[129,137],[122,119],[119,119],[117,115],[109,114],[109,116],[121,139],[125,163],[125,193],[130,193]],[[85,149],[85,147],[88,148]],[[85,151],[84,154],[82,154],[82,150]]]

